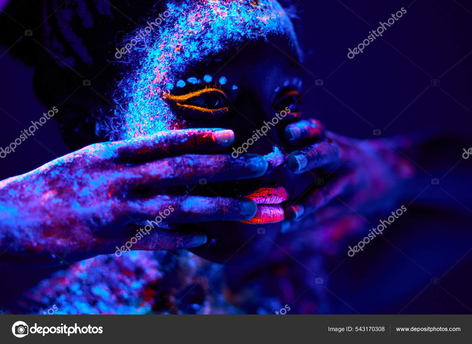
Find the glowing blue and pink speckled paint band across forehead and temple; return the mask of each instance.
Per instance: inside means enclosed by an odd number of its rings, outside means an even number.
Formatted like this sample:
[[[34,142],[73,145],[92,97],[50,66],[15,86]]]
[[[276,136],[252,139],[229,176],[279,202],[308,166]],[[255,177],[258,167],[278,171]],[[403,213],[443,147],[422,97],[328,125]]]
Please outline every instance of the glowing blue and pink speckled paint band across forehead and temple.
[[[114,117],[103,114],[99,135],[121,140],[185,127],[162,97],[171,90],[169,84],[184,87],[187,79],[177,76],[189,73],[190,64],[208,62],[209,56],[240,47],[248,38],[286,36],[301,56],[290,17],[275,0],[166,2],[171,17],[160,25],[159,34],[137,44],[129,55],[126,63],[133,72],[119,82]],[[134,36],[129,34],[124,41]],[[209,74],[203,78],[206,83],[213,79]],[[227,83],[227,77],[219,83]]]

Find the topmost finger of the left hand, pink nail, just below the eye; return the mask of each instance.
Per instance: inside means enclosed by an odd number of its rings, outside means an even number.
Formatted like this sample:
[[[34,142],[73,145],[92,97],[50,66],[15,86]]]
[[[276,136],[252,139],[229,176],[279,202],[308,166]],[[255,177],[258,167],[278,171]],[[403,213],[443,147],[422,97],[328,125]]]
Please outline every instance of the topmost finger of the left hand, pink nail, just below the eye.
[[[126,161],[159,159],[189,152],[221,151],[234,141],[232,130],[181,129],[135,137],[118,145],[118,156]]]

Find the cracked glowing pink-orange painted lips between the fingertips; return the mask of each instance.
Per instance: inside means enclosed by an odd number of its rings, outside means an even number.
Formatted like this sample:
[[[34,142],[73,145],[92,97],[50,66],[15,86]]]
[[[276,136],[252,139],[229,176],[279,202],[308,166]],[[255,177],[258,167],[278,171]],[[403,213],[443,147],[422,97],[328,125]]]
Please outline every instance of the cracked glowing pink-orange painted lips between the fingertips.
[[[288,192],[283,186],[260,187],[245,197],[257,203],[256,215],[250,220],[241,221],[252,225],[282,221],[284,208],[280,203],[288,200]]]

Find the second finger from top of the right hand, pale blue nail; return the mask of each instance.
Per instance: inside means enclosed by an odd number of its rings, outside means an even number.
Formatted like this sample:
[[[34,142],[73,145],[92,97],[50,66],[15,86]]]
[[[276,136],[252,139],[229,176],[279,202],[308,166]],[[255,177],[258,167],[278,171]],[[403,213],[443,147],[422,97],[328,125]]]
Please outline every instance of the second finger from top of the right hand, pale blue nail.
[[[339,147],[336,142],[325,139],[319,143],[293,151],[288,156],[288,168],[300,174],[308,170],[326,167],[339,161]]]

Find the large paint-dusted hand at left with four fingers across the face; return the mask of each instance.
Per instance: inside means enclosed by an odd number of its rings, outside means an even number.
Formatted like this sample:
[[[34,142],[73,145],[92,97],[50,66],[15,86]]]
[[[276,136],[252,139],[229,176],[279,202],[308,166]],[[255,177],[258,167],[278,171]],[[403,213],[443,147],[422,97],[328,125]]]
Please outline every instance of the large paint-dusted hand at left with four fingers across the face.
[[[210,176],[224,181],[263,175],[268,162],[256,154],[236,159],[190,154],[221,151],[233,140],[231,130],[187,129],[96,143],[0,182],[0,205],[6,210],[0,215],[0,249],[8,248],[1,259],[12,257],[15,266],[57,264],[113,253],[117,247],[202,245],[202,232],[162,227],[168,222],[245,220],[254,216],[256,204],[245,198],[150,191],[198,184]]]

